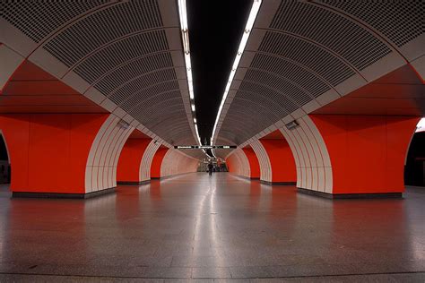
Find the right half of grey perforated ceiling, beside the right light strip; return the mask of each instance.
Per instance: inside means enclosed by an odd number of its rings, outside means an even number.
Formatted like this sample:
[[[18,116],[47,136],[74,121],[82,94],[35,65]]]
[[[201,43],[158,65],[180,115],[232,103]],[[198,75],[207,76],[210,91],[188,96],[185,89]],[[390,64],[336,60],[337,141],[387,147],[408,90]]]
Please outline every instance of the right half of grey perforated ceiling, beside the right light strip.
[[[408,63],[397,47],[423,35],[423,11],[423,1],[263,1],[213,139],[262,136]]]

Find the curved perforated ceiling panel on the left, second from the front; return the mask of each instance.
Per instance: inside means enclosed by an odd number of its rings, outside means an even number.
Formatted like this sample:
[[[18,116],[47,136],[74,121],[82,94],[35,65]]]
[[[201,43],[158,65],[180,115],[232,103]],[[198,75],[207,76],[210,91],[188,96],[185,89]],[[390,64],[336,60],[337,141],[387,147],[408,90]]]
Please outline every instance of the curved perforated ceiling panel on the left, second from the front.
[[[44,48],[60,61],[72,65],[98,47],[161,26],[157,1],[123,2],[75,22]]]

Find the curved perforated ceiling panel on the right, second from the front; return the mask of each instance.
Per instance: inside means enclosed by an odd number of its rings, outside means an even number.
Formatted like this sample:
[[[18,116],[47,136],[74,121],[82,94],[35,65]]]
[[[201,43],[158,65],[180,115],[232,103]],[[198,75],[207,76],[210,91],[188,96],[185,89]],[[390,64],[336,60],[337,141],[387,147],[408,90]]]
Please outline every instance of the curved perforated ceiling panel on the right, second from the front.
[[[304,2],[282,1],[270,28],[295,34],[326,47],[358,69],[391,52],[385,43],[360,25]]]

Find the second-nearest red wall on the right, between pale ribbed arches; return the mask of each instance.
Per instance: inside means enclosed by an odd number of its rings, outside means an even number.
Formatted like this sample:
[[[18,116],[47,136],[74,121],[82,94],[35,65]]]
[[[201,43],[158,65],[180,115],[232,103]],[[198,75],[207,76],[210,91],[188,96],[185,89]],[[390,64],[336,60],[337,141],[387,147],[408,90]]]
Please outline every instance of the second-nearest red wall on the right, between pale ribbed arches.
[[[297,169],[290,145],[283,139],[259,140],[270,160],[272,166],[272,182],[295,183],[297,182]]]

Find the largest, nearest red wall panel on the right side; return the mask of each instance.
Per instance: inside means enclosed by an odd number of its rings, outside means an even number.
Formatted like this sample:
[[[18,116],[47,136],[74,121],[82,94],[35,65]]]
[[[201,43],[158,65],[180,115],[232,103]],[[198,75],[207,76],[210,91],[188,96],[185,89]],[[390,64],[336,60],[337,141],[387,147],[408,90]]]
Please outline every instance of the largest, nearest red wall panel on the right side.
[[[403,193],[418,117],[311,115],[330,155],[333,193]]]

